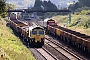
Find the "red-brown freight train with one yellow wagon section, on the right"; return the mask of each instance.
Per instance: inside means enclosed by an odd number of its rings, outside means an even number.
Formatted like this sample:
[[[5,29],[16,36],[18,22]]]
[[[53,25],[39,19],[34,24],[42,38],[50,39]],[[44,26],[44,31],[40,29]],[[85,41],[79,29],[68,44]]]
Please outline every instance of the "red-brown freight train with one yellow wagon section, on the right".
[[[46,25],[44,24],[44,27],[46,28],[46,32],[50,35],[60,38],[61,40],[90,53],[90,36],[58,26],[53,19],[45,19],[44,23],[47,23]]]

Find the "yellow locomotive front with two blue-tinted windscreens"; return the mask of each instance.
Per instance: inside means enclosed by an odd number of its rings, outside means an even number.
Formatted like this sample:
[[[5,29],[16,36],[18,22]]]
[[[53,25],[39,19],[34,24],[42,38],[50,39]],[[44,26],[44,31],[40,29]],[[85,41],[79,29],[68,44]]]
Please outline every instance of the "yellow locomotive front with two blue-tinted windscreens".
[[[42,27],[34,26],[29,28],[29,37],[33,45],[44,45],[45,30]]]

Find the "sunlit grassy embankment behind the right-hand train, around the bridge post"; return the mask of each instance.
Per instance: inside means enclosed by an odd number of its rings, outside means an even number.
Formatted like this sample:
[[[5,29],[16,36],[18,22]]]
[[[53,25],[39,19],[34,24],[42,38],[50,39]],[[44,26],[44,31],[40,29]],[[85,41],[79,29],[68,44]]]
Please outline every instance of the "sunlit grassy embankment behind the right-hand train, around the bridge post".
[[[63,26],[66,23],[66,27],[83,34],[90,36],[90,15],[73,15],[71,18],[71,24],[68,24],[68,15],[66,16],[54,16],[53,18],[58,22],[59,26]]]

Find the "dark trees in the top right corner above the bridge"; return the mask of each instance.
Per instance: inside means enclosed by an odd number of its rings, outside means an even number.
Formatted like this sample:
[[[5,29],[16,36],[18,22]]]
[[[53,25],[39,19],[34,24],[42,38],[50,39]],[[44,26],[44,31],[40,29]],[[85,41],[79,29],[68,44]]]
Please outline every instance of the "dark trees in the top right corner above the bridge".
[[[69,6],[69,9],[71,11],[77,11],[77,12],[79,12],[82,9],[85,9],[86,10],[87,7],[90,7],[90,0],[79,0],[79,2],[76,2],[75,4],[71,4]]]

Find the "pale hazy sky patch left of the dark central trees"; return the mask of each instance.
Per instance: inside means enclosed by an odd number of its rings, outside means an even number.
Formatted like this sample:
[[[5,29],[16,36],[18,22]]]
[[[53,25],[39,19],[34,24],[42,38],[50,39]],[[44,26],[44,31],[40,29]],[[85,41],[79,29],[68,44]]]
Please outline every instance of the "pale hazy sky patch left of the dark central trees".
[[[16,8],[27,8],[33,6],[35,0],[7,0],[7,3],[12,3]]]

